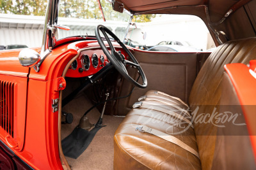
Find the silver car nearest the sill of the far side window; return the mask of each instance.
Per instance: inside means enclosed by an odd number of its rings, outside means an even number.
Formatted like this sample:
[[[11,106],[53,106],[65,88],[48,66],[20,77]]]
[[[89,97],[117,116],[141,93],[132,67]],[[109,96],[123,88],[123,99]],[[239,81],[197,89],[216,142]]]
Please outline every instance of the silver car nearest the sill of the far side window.
[[[196,50],[190,46],[182,46],[182,45],[156,45],[149,48],[147,51],[151,52],[200,52],[200,50]]]

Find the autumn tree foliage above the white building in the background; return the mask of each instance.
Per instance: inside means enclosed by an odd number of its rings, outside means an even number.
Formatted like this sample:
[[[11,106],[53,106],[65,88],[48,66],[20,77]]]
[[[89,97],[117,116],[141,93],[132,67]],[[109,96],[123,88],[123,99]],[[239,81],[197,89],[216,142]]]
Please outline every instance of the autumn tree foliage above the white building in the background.
[[[100,0],[106,20],[127,21],[125,13],[112,10],[107,0]],[[0,13],[44,16],[47,0],[0,0]],[[59,17],[102,19],[97,0],[60,0]],[[134,16],[133,22],[149,22],[156,15]]]

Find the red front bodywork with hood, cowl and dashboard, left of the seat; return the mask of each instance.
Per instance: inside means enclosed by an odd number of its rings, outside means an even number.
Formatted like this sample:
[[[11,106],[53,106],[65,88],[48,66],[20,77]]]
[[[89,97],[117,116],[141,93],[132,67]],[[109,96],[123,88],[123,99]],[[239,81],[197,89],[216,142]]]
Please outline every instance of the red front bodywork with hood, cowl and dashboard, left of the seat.
[[[13,100],[13,103],[5,104],[11,107],[4,108],[3,112],[6,114],[4,117],[8,115],[12,122],[11,129],[6,132],[8,127],[4,124],[5,130],[0,128],[0,140],[17,157],[34,169],[63,169],[58,150],[58,112],[52,113],[52,99],[59,98],[59,90],[65,88],[65,79],[61,78],[65,66],[78,55],[79,50],[84,48],[85,51],[82,51],[80,55],[83,53],[88,53],[90,57],[92,53],[97,53],[98,56],[104,55],[96,39],[82,41],[79,38],[69,38],[63,41],[70,43],[54,48],[45,58],[38,73],[31,68],[28,74],[29,68],[20,65],[18,59],[20,50],[0,52],[0,80],[12,82],[7,86],[9,89],[6,89],[4,94],[13,96],[8,98],[8,100]],[[116,46],[116,50],[122,50],[117,43],[113,42],[113,45]],[[86,48],[93,49],[86,50]],[[40,48],[34,48],[34,50],[39,52]],[[124,54],[123,51],[122,53]],[[78,64],[81,64],[81,56],[79,57]],[[106,55],[104,59],[105,66]],[[75,71],[69,69],[67,76],[89,76],[97,73],[101,68],[91,66],[90,71],[83,71],[83,73],[79,73],[78,69]],[[59,89],[60,83],[63,83],[61,89]],[[10,89],[13,89],[13,92]],[[1,95],[3,98],[2,92]],[[11,113],[13,117],[9,115]],[[8,132],[13,132],[13,136]]]

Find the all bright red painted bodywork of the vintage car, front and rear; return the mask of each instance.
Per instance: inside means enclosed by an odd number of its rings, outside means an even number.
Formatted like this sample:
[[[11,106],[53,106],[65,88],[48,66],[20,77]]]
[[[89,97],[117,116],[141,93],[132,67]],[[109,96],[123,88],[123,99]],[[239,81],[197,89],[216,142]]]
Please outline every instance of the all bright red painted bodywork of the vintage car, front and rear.
[[[105,44],[108,45],[106,41]],[[127,57],[118,43],[114,45]],[[102,52],[95,38],[63,39],[57,41],[51,53],[44,58],[39,72],[33,67],[24,67],[20,64],[18,59],[20,50],[0,52],[0,159],[6,162],[7,168],[14,169],[13,164],[15,164],[16,167],[24,169],[63,169],[59,154],[59,117],[58,111],[52,110],[52,101],[59,99],[61,90],[65,89],[66,82],[63,78],[65,67],[83,48],[92,49],[90,54]],[[33,48],[33,50],[40,53],[41,48]],[[106,55],[104,58],[103,65],[106,66],[108,63]],[[77,59],[81,60],[79,57]],[[81,62],[77,63],[78,67],[81,67]],[[83,73],[79,73],[78,69],[69,69],[66,75],[91,76],[103,66],[90,67],[92,68],[90,71]],[[255,68],[255,60],[251,61],[250,67],[244,64],[225,66],[243,106],[256,105],[256,79],[253,79],[249,73],[250,70],[255,73]],[[58,107],[61,105],[59,104]],[[255,134],[255,115],[246,115],[246,107],[243,107],[243,111],[250,134]],[[256,155],[256,138],[250,136],[250,139]]]

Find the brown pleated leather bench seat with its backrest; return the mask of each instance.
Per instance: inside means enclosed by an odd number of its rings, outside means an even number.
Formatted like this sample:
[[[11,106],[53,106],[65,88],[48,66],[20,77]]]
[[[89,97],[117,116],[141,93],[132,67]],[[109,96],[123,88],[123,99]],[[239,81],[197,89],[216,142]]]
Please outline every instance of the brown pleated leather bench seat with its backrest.
[[[115,169],[212,169],[217,127],[212,124],[177,121],[171,113],[186,115],[197,109],[202,113],[219,111],[222,94],[223,66],[232,62],[248,64],[256,59],[256,38],[229,41],[213,52],[198,74],[191,94],[189,108],[173,97],[150,90],[141,107],[131,110],[116,130]],[[173,106],[175,104],[175,106]],[[189,119],[189,116],[186,117]],[[207,119],[205,120],[207,121]],[[172,134],[200,154],[200,159],[169,141],[152,134],[135,131],[138,125]],[[186,130],[186,131],[185,131]],[[217,147],[218,148],[218,147]],[[216,166],[214,166],[216,167]],[[252,166],[253,167],[253,166]]]

